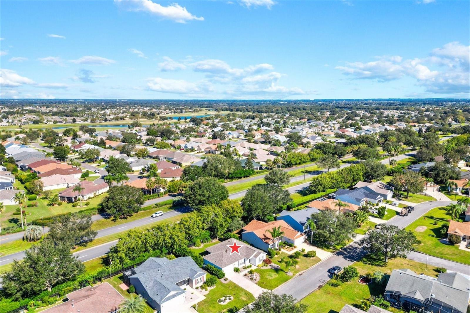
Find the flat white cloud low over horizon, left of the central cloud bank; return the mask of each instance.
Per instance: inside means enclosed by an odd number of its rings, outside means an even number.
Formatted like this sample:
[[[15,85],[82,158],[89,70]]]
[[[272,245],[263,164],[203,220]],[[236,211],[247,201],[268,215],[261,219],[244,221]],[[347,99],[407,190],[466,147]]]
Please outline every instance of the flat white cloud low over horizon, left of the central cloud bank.
[[[184,79],[149,78],[147,86],[149,90],[170,94],[201,94],[207,92],[210,87],[206,83],[192,83]]]

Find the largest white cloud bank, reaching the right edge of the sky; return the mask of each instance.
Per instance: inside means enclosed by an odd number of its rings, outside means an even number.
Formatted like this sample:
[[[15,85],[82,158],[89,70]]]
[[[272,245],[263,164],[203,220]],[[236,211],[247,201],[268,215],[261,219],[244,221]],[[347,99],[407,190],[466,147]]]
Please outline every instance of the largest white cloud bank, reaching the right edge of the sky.
[[[346,62],[345,66],[337,66],[336,69],[355,79],[386,82],[411,77],[430,93],[468,94],[470,46],[450,42],[433,49],[429,56],[423,58],[403,60],[400,56],[384,56],[367,63]]]

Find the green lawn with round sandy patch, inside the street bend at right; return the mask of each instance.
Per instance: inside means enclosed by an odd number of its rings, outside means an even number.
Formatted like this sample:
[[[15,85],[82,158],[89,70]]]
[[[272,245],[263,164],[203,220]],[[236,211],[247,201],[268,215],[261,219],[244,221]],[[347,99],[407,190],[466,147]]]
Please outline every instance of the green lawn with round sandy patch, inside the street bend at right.
[[[470,252],[460,250],[457,245],[441,243],[440,229],[443,223],[448,223],[450,215],[447,214],[445,208],[436,208],[424,214],[411,225],[407,226],[407,230],[413,231],[418,240],[423,244],[417,246],[417,250],[434,255],[439,258],[465,263],[470,265]],[[434,225],[434,222],[437,225]],[[418,226],[425,226],[423,232],[416,232]]]

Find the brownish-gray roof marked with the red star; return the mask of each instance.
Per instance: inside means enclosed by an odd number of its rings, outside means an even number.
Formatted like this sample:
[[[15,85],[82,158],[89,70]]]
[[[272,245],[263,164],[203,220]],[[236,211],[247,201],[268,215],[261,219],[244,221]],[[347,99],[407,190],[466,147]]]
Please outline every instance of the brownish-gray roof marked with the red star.
[[[237,245],[242,246],[239,249],[240,254],[238,253],[230,254],[231,249],[228,248],[227,246],[232,245],[234,242]],[[250,259],[253,257],[258,257],[260,254],[265,253],[256,248],[251,247],[250,245],[246,243],[242,243],[241,241],[238,241],[234,238],[230,238],[230,239],[227,239],[226,241],[213,245],[207,248],[206,251],[209,252],[210,254],[205,255],[204,259],[208,260],[212,264],[217,265],[221,268],[224,268],[225,266],[228,266],[239,260],[242,260],[243,258]]]

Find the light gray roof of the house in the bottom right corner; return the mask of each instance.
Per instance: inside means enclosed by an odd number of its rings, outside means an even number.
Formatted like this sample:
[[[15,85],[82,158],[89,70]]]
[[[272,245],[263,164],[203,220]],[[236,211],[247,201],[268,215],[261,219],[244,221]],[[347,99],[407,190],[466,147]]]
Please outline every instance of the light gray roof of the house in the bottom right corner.
[[[431,302],[432,298],[466,312],[470,298],[470,281],[462,274],[445,273],[438,278],[418,275],[409,269],[393,270],[385,291],[398,291],[407,297]],[[452,285],[448,285],[452,283]]]

